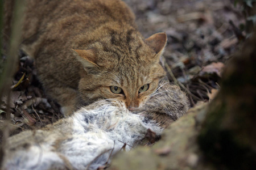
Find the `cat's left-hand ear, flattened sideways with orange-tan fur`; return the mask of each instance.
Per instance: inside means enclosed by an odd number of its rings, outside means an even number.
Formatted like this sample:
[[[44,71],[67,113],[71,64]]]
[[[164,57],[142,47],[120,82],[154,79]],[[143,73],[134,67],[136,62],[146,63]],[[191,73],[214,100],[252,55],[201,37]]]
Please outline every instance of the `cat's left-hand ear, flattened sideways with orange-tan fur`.
[[[99,66],[96,63],[96,57],[92,49],[76,50],[72,49],[77,59],[82,63],[87,73],[97,73]]]

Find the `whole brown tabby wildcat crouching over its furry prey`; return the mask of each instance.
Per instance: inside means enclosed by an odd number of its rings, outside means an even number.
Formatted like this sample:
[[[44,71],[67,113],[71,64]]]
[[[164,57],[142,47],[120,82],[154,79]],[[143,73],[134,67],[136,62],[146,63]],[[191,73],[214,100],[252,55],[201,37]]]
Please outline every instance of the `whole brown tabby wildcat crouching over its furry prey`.
[[[11,4],[5,1],[10,34]],[[166,73],[159,64],[166,33],[144,39],[120,0],[27,0],[22,49],[40,82],[69,115],[77,105],[117,99],[142,105]]]

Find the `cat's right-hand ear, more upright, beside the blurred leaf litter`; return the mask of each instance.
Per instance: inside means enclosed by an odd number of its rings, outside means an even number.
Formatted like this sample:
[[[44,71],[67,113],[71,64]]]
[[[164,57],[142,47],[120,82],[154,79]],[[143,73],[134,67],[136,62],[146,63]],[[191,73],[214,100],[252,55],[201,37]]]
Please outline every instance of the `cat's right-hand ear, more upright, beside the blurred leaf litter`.
[[[155,33],[145,40],[156,54],[162,54],[164,46],[166,46],[167,35],[165,32]]]

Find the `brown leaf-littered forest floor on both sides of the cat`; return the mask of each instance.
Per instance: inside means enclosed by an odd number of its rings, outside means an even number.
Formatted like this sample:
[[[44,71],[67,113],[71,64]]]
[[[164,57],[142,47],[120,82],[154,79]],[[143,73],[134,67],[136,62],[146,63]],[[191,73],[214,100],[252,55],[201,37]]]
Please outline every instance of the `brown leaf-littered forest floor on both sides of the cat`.
[[[245,24],[242,6],[235,7],[229,0],[125,2],[134,11],[144,37],[167,33],[162,63],[170,82],[187,92],[191,107],[212,99],[220,88],[226,61],[240,48],[245,36],[240,31]],[[34,61],[22,52],[11,88],[11,121],[15,129],[12,134],[38,129],[63,117],[59,105],[44,94]],[[6,97],[0,101],[0,130],[6,117],[6,101]]]

